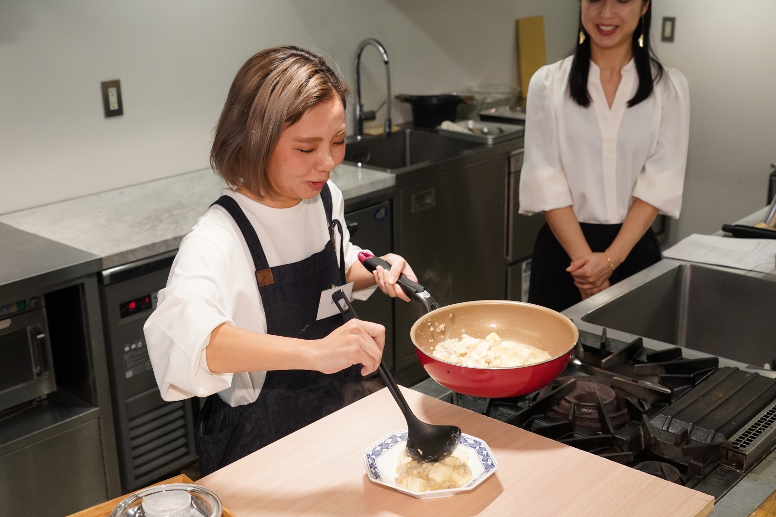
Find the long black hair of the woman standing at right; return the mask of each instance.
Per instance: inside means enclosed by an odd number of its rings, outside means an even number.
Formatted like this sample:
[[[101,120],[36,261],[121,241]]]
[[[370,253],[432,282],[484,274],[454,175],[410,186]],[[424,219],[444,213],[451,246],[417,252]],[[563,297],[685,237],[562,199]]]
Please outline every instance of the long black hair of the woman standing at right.
[[[644,0],[642,0],[643,2]],[[639,20],[639,25],[633,31],[631,40],[633,48],[633,62],[636,64],[636,74],[639,75],[639,88],[636,94],[628,101],[628,107],[639,104],[650,95],[655,83],[663,77],[663,64],[657,59],[652,43],[650,42],[650,26],[652,25],[652,2],[647,6],[644,16]],[[569,74],[569,95],[574,102],[583,108],[590,106],[590,93],[587,91],[587,75],[590,73],[590,34],[582,26],[582,11],[580,9],[580,31],[584,33],[584,42],[577,41],[574,50],[574,59],[571,62]],[[639,47],[639,36],[644,35],[644,46]]]

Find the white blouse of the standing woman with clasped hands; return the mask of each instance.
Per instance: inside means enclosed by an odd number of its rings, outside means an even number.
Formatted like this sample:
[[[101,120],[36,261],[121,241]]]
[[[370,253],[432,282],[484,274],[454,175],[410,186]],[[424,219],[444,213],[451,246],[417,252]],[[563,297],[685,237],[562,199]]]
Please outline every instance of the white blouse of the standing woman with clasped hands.
[[[667,68],[653,95],[628,107],[639,77],[630,60],[609,109],[601,70],[591,61],[592,102],[568,93],[573,57],[531,78],[525,119],[520,213],[572,206],[580,222],[617,224],[634,198],[679,217],[690,129],[690,95],[680,71]]]

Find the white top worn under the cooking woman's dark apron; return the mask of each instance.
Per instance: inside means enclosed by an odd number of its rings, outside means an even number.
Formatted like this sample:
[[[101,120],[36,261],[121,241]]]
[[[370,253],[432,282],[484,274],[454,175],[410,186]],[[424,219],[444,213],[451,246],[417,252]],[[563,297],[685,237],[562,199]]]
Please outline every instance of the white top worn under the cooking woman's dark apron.
[[[328,185],[332,217],[342,222],[348,271],[361,248],[350,243],[342,192],[332,181]],[[272,209],[228,188],[221,194],[234,198],[245,212],[269,267],[304,260],[323,250],[330,240],[320,196],[290,209]],[[336,230],[334,234],[339,239]],[[339,260],[339,242],[335,249]],[[210,333],[221,323],[267,332],[254,272],[237,223],[218,205],[208,209],[183,238],[167,287],[159,291],[158,305],[143,328],[154,375],[166,401],[218,393],[234,407],[258,398],[266,372],[213,374],[205,357]],[[375,289],[355,291],[354,298],[369,298]]]

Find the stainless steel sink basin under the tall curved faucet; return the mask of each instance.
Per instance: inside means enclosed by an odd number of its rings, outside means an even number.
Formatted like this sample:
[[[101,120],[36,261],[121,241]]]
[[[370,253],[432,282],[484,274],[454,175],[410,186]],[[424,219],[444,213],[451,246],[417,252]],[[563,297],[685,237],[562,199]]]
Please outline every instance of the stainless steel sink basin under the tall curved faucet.
[[[387,137],[374,136],[348,141],[345,162],[396,171],[456,157],[465,150],[482,145],[455,140],[430,131],[404,129]]]

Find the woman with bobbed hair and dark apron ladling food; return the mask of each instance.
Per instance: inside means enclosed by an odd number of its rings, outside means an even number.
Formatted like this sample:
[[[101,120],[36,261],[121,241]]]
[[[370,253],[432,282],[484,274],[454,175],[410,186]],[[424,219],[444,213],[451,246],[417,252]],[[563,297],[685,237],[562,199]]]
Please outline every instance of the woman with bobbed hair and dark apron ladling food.
[[[144,327],[161,395],[207,397],[197,424],[203,474],[366,395],[385,329],[317,319],[323,291],[374,285],[409,301],[403,258],[374,274],[356,260],[341,191],[347,86],[297,47],[263,50],[237,72],[211,151],[231,188],[183,239]],[[331,302],[331,294],[329,294]]]

